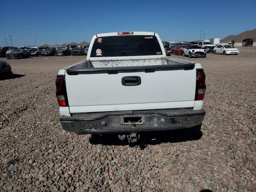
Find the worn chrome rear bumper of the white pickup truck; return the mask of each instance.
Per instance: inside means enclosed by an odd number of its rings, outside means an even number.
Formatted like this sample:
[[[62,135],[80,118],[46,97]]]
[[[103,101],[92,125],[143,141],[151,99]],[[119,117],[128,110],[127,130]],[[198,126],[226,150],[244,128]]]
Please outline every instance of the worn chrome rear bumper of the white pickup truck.
[[[194,127],[202,124],[204,115],[203,109],[101,112],[62,116],[60,123],[64,130],[79,134],[144,132]],[[126,116],[141,116],[143,124],[124,124],[123,117]]]

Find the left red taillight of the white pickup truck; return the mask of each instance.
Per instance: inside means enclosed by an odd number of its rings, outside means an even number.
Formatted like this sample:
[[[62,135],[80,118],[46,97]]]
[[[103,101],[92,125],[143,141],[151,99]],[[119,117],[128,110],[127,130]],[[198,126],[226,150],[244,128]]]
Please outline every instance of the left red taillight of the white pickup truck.
[[[58,75],[56,78],[56,97],[59,106],[68,106],[64,75]]]

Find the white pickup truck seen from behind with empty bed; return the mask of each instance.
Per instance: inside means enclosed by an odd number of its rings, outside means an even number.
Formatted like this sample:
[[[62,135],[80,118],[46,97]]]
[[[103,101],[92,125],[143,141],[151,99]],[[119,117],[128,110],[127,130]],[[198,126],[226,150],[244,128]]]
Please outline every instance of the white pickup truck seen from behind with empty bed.
[[[200,128],[205,90],[202,66],[166,57],[154,32],[96,34],[87,60],[56,79],[64,130],[130,142],[144,131]]]

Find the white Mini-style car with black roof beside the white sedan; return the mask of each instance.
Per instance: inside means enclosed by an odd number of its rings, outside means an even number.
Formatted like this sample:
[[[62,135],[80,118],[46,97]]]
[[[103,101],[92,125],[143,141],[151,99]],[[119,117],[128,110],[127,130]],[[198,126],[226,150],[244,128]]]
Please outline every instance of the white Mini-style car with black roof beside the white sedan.
[[[206,57],[206,50],[198,45],[186,45],[183,48],[182,56],[192,57]]]

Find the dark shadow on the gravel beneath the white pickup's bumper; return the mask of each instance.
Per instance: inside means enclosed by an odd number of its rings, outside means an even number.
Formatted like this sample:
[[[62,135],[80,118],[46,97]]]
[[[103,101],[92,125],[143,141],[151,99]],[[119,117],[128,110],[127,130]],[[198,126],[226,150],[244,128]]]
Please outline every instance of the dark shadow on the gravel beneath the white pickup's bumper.
[[[199,140],[202,135],[203,134],[201,131],[194,131],[193,129],[186,128],[182,130],[141,132],[138,142],[131,144],[128,143],[127,139],[124,141],[119,140],[117,134],[92,135],[89,141],[91,144],[117,146],[130,145],[131,147],[140,146],[140,148],[143,150],[148,145]]]

